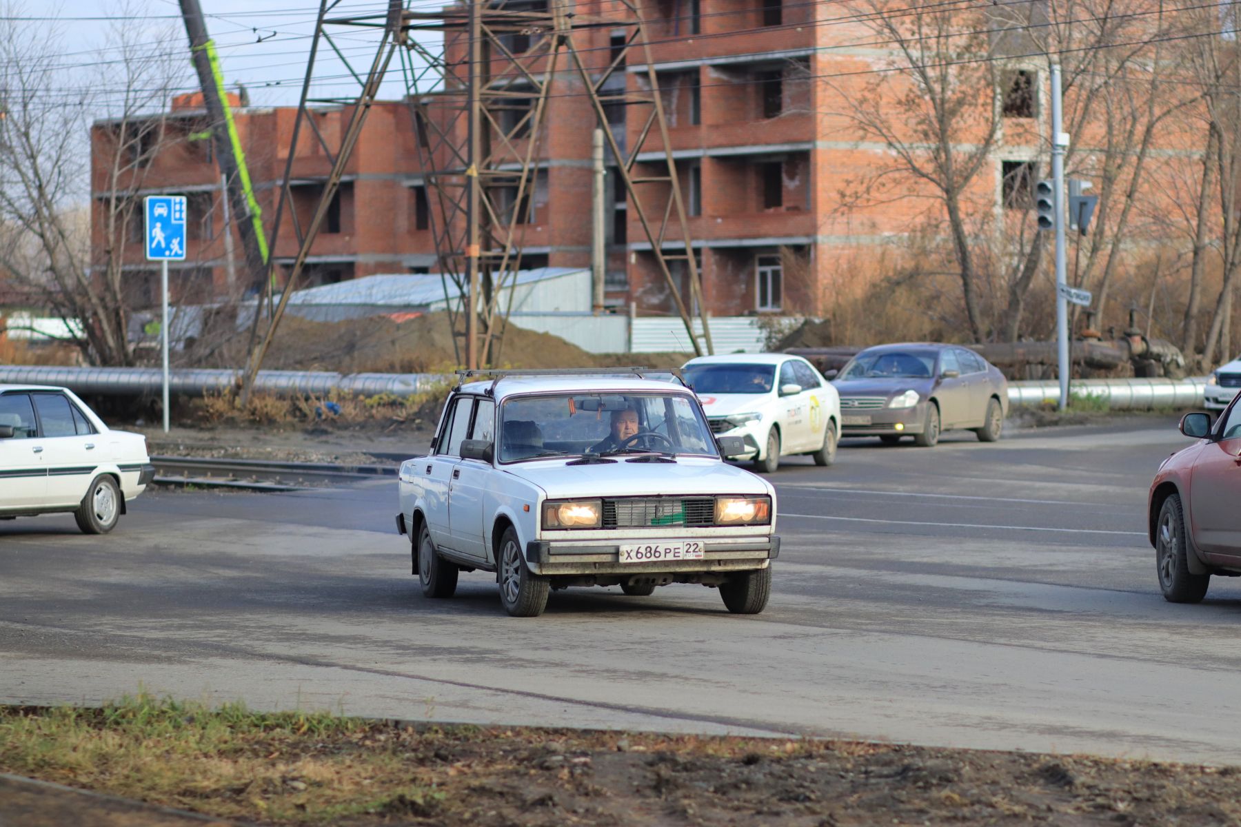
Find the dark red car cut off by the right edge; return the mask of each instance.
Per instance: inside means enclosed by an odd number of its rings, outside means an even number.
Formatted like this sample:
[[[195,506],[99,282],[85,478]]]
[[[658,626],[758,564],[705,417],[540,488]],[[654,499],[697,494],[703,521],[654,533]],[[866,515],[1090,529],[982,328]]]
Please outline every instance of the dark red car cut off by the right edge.
[[[1150,484],[1149,532],[1159,588],[1172,603],[1199,603],[1212,574],[1241,574],[1241,404],[1189,413],[1180,433],[1198,441],[1163,461]]]

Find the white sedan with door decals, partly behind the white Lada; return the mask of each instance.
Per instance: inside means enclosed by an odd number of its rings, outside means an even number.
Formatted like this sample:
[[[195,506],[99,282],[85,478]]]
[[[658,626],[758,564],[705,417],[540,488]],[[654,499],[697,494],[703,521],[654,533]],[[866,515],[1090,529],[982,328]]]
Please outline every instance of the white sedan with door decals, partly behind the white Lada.
[[[771,474],[779,459],[809,454],[831,465],[840,438],[840,394],[799,356],[731,353],[686,362],[685,382],[706,412],[711,433],[741,436],[753,460]]]

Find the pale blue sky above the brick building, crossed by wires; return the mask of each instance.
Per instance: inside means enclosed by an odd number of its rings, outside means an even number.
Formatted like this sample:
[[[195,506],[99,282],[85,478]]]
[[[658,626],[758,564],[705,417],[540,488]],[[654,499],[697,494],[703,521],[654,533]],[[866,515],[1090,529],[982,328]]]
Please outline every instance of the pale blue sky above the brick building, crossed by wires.
[[[244,84],[251,105],[295,105],[302,91],[307,58],[314,35],[318,2],[315,0],[200,0],[206,16],[207,31],[216,41],[226,83],[232,88]],[[439,2],[419,2],[428,9]],[[339,0],[330,12],[335,16],[382,14],[385,0]],[[175,55],[184,50],[189,64],[189,40],[180,17],[176,0],[62,0],[58,5],[38,6],[24,2],[11,7],[17,17],[58,17],[58,22],[22,20],[24,26],[43,30],[48,35],[60,30],[66,35],[62,42],[65,64],[92,83],[108,88],[105,61],[117,52],[110,41],[113,26],[125,26],[144,47]],[[145,17],[144,17],[145,16]],[[138,30],[138,31],[134,31]],[[336,27],[334,40],[350,60],[354,69],[365,77],[375,55],[379,32]],[[102,53],[97,50],[109,50]],[[93,72],[104,63],[102,81],[93,79]],[[92,66],[93,64],[93,66]],[[77,67],[77,68],[74,68]],[[381,97],[398,98],[405,93],[400,64],[393,58],[390,81],[381,89]],[[119,86],[119,81],[118,81]],[[196,88],[196,77],[187,73],[186,91]],[[323,45],[315,61],[313,97],[351,97],[359,83],[349,76],[345,64]],[[113,98],[114,99],[114,98]]]

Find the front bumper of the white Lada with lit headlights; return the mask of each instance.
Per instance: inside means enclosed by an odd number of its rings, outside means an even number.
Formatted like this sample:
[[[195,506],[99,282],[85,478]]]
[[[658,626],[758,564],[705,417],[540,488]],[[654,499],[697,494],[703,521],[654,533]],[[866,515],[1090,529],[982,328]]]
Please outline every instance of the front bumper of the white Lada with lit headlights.
[[[675,543],[678,534],[665,537],[633,537],[634,543]],[[702,558],[692,560],[652,560],[622,563],[620,546],[614,538],[531,541],[526,543],[530,570],[544,577],[599,577],[625,579],[635,574],[714,575],[767,568],[779,557],[779,537],[774,534],[694,537],[702,542]],[[692,582],[696,578],[670,577],[669,580]]]

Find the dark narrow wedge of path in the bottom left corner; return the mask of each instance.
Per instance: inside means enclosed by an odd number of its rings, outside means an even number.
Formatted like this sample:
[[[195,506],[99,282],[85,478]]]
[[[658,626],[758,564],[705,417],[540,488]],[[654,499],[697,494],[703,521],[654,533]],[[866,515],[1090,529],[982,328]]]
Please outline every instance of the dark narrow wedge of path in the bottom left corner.
[[[0,772],[0,827],[66,826],[238,827],[240,822]]]

